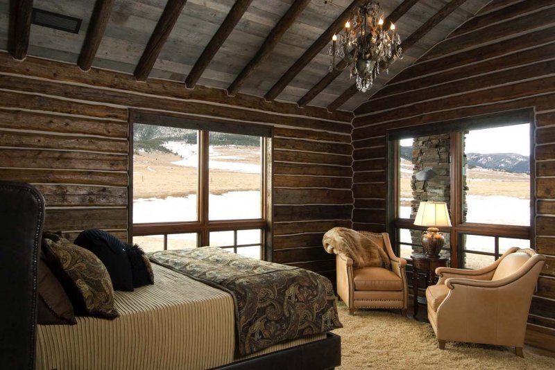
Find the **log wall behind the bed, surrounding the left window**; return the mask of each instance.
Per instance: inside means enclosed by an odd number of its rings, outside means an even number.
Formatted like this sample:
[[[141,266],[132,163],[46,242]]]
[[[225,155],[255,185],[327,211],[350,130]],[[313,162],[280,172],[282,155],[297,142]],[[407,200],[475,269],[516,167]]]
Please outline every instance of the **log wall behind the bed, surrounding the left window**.
[[[273,130],[273,254],[334,279],[323,233],[350,226],[352,114],[0,52],[0,179],[46,199],[46,229],[99,228],[128,237],[130,109]]]

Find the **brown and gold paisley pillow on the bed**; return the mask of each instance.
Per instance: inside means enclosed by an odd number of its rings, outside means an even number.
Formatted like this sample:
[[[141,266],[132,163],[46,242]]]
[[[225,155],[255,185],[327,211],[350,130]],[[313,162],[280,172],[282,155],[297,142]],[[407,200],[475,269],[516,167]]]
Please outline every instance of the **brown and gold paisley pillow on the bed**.
[[[42,247],[76,313],[108,319],[119,317],[114,308],[110,275],[98,257],[65,238],[58,242],[45,238]]]

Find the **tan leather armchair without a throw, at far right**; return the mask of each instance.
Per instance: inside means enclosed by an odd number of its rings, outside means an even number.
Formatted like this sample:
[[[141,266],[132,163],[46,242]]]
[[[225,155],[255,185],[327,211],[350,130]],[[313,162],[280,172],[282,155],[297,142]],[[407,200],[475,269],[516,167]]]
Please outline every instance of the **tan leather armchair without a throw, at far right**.
[[[545,256],[513,247],[479,270],[438,267],[426,290],[428,319],[445,341],[514,346],[522,357],[532,294]]]

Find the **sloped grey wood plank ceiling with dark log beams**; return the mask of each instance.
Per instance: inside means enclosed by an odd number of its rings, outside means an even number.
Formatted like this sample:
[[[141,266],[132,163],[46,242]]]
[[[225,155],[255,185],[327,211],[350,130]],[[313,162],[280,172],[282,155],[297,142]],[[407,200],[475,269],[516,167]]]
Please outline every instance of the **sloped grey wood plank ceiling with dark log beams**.
[[[496,1],[496,0],[494,0]],[[298,103],[354,111],[489,0],[382,0],[404,41],[404,58],[366,94],[349,72],[328,73],[331,35],[361,0],[0,0],[0,49],[187,80]],[[83,19],[78,34],[27,26],[28,7]],[[10,14],[12,20],[10,22]],[[10,34],[10,26],[16,29]],[[13,37],[10,37],[13,35]],[[26,46],[28,42],[28,46]]]

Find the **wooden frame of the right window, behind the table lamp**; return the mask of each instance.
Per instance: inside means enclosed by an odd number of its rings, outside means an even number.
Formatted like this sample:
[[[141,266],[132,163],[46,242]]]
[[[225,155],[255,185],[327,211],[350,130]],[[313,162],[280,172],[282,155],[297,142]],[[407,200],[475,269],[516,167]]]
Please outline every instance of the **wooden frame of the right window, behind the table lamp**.
[[[386,134],[388,145],[388,182],[393,186],[388,187],[386,229],[391,235],[392,245],[395,253],[400,253],[400,240],[398,240],[398,229],[417,229],[425,230],[426,227],[420,227],[413,224],[413,220],[398,217],[399,197],[400,197],[400,139],[409,137],[426,136],[429,134],[437,134],[438,127],[441,127],[441,133],[451,135],[451,152],[450,152],[450,216],[452,227],[441,228],[440,231],[450,233],[450,265],[452,267],[461,267],[463,265],[462,247],[459,246],[459,239],[463,234],[493,236],[496,238],[515,238],[534,240],[535,238],[535,220],[536,220],[536,193],[534,191],[535,184],[535,116],[533,109],[518,109],[510,112],[502,112],[495,114],[486,114],[475,116],[472,118],[461,118],[459,120],[430,123],[427,125],[419,125],[416,127],[406,127],[398,130],[390,130]],[[491,127],[502,127],[509,125],[518,125],[529,123],[530,125],[530,226],[503,225],[503,224],[482,224],[475,222],[463,222],[463,182],[462,182],[462,164],[463,151],[462,140],[463,132],[467,130],[477,130]],[[533,243],[530,243],[533,245]],[[497,249],[496,249],[497,252]],[[493,255],[493,254],[492,254]],[[496,256],[497,258],[497,256]]]

